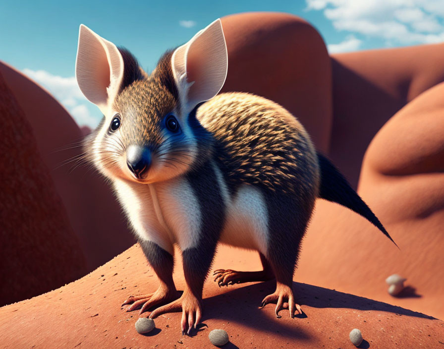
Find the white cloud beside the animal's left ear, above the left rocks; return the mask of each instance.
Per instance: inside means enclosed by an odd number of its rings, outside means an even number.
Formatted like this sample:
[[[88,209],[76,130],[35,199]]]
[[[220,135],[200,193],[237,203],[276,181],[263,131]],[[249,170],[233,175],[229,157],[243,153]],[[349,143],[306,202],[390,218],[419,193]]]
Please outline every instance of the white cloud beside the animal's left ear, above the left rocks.
[[[83,96],[74,76],[61,77],[45,70],[23,69],[23,73],[45,87],[56,100],[65,107],[79,125],[95,128],[100,121],[100,113],[92,115],[90,102]]]

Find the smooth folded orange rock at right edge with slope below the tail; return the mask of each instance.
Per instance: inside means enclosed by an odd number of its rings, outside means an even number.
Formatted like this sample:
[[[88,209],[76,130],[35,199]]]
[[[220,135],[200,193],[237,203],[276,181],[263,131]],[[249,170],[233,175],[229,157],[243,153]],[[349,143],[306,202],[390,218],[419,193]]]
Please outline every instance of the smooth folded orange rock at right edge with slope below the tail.
[[[356,214],[319,200],[297,280],[444,318],[444,84],[412,100],[370,144],[359,193],[400,250]],[[391,274],[407,278],[399,297]]]

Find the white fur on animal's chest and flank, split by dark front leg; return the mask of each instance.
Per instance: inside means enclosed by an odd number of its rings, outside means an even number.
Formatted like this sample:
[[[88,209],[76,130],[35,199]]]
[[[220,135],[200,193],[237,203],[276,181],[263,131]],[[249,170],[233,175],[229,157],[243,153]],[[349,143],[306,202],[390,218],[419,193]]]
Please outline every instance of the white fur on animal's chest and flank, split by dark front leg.
[[[229,197],[222,175],[216,172],[225,205],[225,222],[220,241],[256,249],[267,255],[268,211],[259,188],[244,184]],[[199,198],[186,179],[154,184],[138,184],[116,179],[114,187],[120,203],[139,238],[157,243],[173,252],[197,245],[202,233]]]

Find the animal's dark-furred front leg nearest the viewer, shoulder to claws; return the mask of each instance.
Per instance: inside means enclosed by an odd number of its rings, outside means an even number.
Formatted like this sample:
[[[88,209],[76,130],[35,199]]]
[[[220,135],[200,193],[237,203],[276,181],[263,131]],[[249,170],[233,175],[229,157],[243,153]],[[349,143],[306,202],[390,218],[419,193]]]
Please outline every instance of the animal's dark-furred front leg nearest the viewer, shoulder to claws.
[[[193,230],[184,234],[186,240],[179,240],[182,250],[183,272],[186,287],[176,301],[154,310],[150,318],[161,314],[182,310],[182,333],[188,328],[196,328],[202,318],[202,291],[205,279],[216,252],[216,245],[222,231],[225,206],[215,173],[217,169],[210,163],[187,176],[196,200],[186,202],[187,215],[183,222],[198,220],[198,224],[184,224]],[[193,202],[197,203],[196,205]]]

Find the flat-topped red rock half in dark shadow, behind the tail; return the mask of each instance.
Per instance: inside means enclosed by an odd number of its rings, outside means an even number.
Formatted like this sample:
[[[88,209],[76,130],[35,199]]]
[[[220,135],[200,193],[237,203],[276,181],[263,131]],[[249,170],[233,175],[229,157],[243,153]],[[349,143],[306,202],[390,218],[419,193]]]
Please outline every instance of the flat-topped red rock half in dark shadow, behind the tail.
[[[356,187],[376,133],[408,102],[444,81],[444,44],[335,54],[330,156]]]

